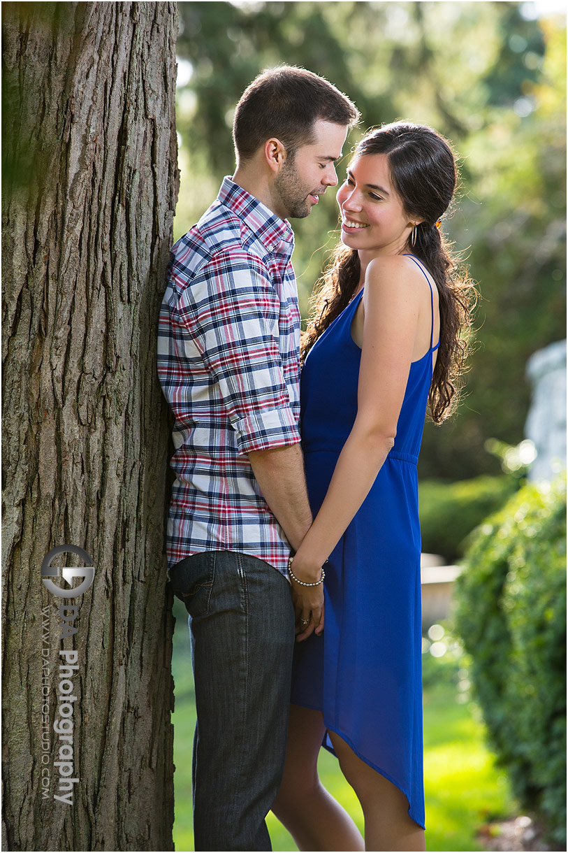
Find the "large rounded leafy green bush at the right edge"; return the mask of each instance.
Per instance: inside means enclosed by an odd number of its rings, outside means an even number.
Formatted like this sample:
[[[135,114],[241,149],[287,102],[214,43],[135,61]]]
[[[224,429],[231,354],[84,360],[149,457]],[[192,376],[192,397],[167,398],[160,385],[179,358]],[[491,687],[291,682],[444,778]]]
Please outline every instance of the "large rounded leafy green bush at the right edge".
[[[472,537],[455,624],[499,763],[565,844],[565,482],[525,485]],[[555,848],[555,849],[565,849]]]

